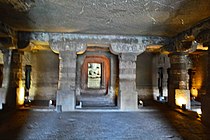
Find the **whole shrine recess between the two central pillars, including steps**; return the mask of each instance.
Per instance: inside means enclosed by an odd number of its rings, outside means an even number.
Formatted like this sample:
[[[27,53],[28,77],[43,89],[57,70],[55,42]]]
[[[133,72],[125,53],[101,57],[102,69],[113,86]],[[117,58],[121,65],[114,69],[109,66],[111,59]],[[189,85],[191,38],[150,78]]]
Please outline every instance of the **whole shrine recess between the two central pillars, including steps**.
[[[117,106],[118,58],[108,47],[87,47],[77,56],[76,103],[83,107]]]

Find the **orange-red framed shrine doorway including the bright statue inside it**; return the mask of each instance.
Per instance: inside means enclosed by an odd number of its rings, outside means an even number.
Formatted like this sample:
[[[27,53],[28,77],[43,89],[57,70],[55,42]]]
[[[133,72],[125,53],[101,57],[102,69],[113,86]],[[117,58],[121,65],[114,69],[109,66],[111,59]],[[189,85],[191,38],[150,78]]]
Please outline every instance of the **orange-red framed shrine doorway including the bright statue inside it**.
[[[81,92],[107,94],[110,81],[110,62],[104,55],[86,56],[81,71]]]

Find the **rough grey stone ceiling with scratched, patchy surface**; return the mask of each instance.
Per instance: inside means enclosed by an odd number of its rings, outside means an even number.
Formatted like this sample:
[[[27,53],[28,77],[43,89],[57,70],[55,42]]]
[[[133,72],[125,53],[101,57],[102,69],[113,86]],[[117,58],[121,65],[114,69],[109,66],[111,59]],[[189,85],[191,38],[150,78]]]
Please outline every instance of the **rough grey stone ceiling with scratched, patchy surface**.
[[[210,0],[0,0],[16,31],[175,36],[210,16]]]

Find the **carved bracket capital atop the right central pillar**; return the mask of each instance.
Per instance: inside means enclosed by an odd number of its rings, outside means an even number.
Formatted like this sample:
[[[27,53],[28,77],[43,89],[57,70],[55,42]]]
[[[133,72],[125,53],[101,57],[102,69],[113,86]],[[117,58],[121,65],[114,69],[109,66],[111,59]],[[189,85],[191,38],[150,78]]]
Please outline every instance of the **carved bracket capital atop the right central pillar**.
[[[134,53],[139,55],[145,51],[146,47],[142,44],[112,43],[110,51],[114,54]]]

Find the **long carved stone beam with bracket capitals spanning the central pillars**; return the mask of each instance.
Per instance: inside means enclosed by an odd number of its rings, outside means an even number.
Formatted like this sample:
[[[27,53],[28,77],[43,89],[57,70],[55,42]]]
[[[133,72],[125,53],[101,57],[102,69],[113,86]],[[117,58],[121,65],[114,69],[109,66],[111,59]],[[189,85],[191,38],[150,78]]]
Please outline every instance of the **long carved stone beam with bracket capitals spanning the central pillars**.
[[[52,50],[58,52],[59,50],[75,50],[80,51],[88,44],[101,44],[110,46],[116,53],[121,50],[124,52],[136,51],[140,54],[145,50],[146,46],[150,45],[165,45],[168,44],[169,38],[155,37],[155,36],[120,36],[120,35],[93,35],[93,34],[71,34],[71,33],[48,33],[48,32],[18,32],[19,42],[22,46],[30,42],[30,40],[37,40],[49,42]],[[76,44],[80,44],[83,48],[74,48]],[[118,46],[118,47],[116,47]],[[118,50],[116,50],[118,49]],[[119,52],[118,52],[119,51]]]

